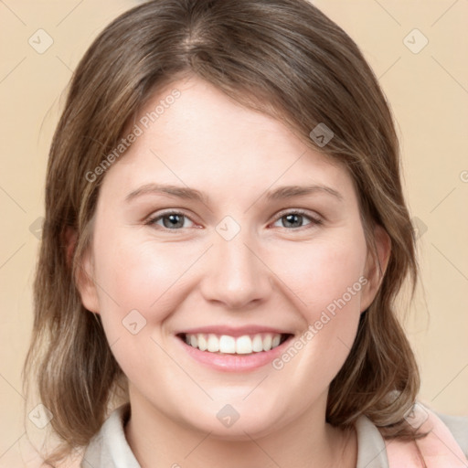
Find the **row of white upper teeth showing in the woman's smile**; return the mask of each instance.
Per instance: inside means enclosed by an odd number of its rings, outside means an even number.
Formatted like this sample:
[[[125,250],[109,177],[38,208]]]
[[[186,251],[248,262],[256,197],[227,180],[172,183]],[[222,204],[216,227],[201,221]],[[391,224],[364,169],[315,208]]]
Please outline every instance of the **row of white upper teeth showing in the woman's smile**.
[[[186,334],[187,345],[197,347],[201,351],[221,354],[249,355],[252,352],[270,351],[272,348],[280,346],[281,340],[281,334],[271,333],[242,335],[238,338],[229,335]]]

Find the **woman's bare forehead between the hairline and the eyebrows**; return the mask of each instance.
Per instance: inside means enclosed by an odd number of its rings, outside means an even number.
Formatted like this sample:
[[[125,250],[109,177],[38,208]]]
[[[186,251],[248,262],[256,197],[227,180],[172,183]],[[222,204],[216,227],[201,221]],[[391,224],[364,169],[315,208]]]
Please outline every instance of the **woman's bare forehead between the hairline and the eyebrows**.
[[[138,136],[107,171],[104,186],[121,190],[162,182],[218,193],[236,187],[265,190],[276,182],[351,188],[341,165],[282,122],[241,106],[197,78],[173,82],[154,94],[129,132],[133,129]]]

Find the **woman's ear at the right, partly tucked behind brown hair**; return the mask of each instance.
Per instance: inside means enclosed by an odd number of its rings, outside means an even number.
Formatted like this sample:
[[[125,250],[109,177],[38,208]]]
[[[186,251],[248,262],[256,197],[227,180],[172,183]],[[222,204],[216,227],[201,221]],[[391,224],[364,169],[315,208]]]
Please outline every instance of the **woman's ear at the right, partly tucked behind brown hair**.
[[[375,250],[367,251],[367,261],[364,276],[367,283],[361,294],[361,312],[374,301],[385,271],[387,271],[388,260],[391,252],[391,239],[388,232],[380,225],[374,227]]]

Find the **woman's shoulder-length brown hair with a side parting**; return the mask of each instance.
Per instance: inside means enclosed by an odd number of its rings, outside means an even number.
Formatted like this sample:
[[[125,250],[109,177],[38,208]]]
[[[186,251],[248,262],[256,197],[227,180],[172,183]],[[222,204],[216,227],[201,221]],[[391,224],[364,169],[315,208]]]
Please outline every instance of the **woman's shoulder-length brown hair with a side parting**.
[[[83,307],[76,287],[104,177],[90,182],[86,174],[112,152],[155,92],[190,74],[281,119],[305,144],[344,165],[356,185],[369,248],[374,251],[376,224],[388,232],[388,268],[331,384],[326,419],[346,427],[364,414],[387,437],[412,437],[404,414],[420,379],[395,299],[407,276],[414,293],[418,269],[398,137],[355,42],[306,0],[154,0],[115,19],[81,59],[49,153],[26,364],[54,415],[54,431],[69,449],[86,445],[116,388],[124,391],[100,317]],[[335,133],[323,147],[309,137],[319,123]],[[77,235],[72,263],[68,227]]]

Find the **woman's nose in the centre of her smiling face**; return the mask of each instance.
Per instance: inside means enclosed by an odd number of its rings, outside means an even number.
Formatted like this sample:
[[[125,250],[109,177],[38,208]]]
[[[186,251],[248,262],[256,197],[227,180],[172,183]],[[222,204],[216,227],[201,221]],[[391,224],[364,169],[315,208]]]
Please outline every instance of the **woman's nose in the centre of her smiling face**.
[[[215,239],[200,289],[207,301],[229,309],[248,309],[271,294],[271,275],[256,243],[241,230],[234,239]]]

